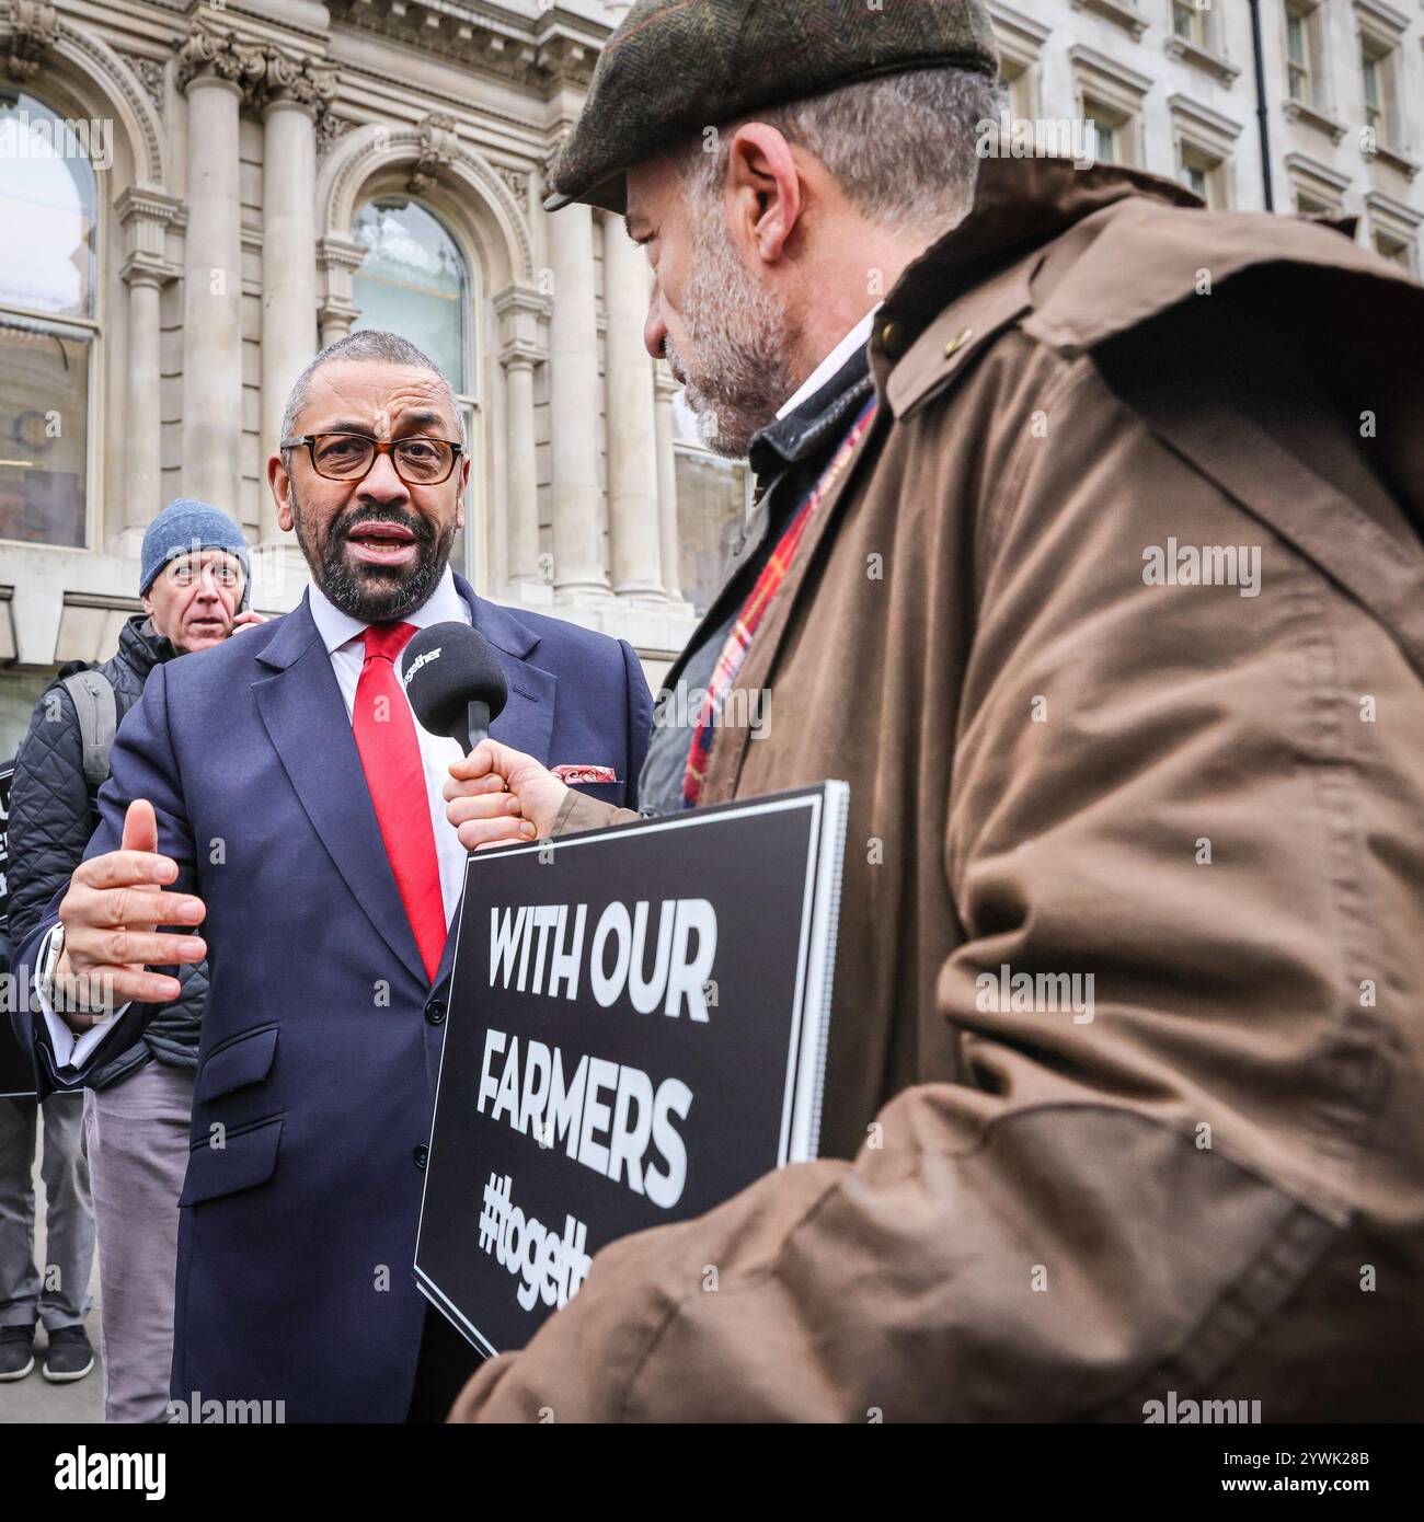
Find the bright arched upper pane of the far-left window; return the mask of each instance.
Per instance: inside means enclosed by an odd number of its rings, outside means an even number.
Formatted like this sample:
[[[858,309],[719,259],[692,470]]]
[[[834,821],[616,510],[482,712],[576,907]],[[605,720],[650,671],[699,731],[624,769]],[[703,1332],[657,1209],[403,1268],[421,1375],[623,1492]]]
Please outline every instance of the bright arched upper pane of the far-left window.
[[[34,96],[0,90],[0,306],[93,315],[96,204],[73,131]]]

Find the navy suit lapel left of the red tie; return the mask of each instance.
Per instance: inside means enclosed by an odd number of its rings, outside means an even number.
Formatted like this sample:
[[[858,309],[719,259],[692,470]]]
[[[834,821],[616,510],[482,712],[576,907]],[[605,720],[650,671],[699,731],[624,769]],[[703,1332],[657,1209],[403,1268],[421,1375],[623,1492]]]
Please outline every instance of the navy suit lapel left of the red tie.
[[[305,597],[257,659],[274,668],[253,683],[257,712],[312,828],[376,931],[425,983],[346,702]]]

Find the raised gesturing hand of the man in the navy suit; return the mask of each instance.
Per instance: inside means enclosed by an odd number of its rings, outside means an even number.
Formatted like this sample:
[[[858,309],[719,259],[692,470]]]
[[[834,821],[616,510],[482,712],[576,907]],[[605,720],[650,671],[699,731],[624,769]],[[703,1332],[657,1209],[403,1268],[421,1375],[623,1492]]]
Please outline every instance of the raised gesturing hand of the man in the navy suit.
[[[158,855],[158,820],[148,799],[136,798],[123,816],[119,851],[81,861],[59,904],[64,954],[55,970],[55,1009],[72,1030],[87,1030],[104,1015],[84,1015],[104,1003],[137,998],[160,1005],[177,998],[175,977],[151,966],[201,962],[207,945],[193,935],[160,933],[158,925],[196,925],[207,909],[192,893],[164,893],[178,863]]]

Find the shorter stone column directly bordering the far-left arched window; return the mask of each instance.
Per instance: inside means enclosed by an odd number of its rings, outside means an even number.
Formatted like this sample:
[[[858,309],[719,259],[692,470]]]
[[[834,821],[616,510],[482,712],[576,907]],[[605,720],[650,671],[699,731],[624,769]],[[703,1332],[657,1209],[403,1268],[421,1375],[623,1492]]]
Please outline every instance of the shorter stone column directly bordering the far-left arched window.
[[[114,209],[125,230],[128,257],[120,275],[128,288],[123,387],[123,516],[111,524],[111,548],[137,559],[143,530],[158,513],[163,492],[160,406],[160,301],[178,271],[164,253],[164,230],[178,216],[175,199],[131,187]]]

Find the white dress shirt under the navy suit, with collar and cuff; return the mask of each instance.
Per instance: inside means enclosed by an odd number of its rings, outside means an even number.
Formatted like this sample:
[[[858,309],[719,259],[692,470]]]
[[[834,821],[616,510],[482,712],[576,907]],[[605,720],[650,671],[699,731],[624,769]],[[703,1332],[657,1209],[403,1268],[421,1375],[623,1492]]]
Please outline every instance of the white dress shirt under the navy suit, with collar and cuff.
[[[366,664],[366,624],[359,618],[352,618],[335,607],[330,600],[312,586],[308,592],[312,621],[326,653],[330,658],[337,686],[346,702],[346,717],[350,718],[356,708],[356,683],[361,680],[361,667]],[[469,607],[455,587],[455,578],[449,566],[440,577],[436,591],[414,612],[407,613],[401,622],[413,624],[416,629],[426,629],[429,624],[471,622]],[[247,635],[233,635],[235,639],[247,639]],[[404,662],[402,662],[404,664]],[[396,676],[401,671],[398,668]],[[402,688],[402,696],[404,696]],[[445,922],[449,925],[455,909],[460,906],[460,895],[465,892],[465,863],[469,858],[454,825],[445,817],[445,784],[449,781],[449,766],[465,753],[460,744],[448,735],[433,735],[423,729],[420,720],[411,712],[416,724],[416,740],[420,744],[420,761],[425,766],[425,791],[429,798],[429,822],[436,836],[436,857],[440,864],[440,896],[445,900]],[[53,933],[53,931],[52,931]],[[201,935],[201,930],[200,930]],[[38,947],[38,966],[34,977],[35,998],[44,1014],[49,1027],[50,1047],[58,1067],[82,1067],[99,1043],[113,1029],[113,1018],[123,1014],[117,1009],[114,1017],[101,1021],[84,1035],[76,1036],[73,1030],[55,1014],[49,998],[40,988],[40,970],[47,962],[49,936]]]

